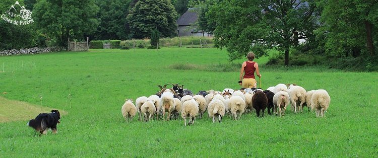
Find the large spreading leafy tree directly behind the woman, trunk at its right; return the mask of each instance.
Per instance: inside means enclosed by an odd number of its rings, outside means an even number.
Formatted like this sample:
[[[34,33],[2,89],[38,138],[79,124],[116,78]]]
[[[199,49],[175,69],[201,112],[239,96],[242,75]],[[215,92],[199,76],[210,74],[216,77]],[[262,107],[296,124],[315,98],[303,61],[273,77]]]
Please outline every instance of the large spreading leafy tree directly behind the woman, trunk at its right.
[[[315,9],[313,1],[229,0],[211,6],[209,16],[217,23],[215,44],[227,48],[230,60],[251,50],[257,57],[267,55],[275,48],[284,52],[288,65],[290,47],[318,27]],[[296,33],[298,36],[293,36]]]

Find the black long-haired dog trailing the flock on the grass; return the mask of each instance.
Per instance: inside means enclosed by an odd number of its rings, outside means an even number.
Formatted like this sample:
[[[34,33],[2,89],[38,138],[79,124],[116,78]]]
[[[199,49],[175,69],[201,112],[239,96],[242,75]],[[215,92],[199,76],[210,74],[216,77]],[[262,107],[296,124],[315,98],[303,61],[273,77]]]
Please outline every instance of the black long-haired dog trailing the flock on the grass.
[[[51,113],[39,114],[35,119],[28,122],[28,126],[33,127],[40,134],[47,134],[50,128],[52,133],[56,133],[56,125],[60,123],[60,113],[57,110],[51,110]]]

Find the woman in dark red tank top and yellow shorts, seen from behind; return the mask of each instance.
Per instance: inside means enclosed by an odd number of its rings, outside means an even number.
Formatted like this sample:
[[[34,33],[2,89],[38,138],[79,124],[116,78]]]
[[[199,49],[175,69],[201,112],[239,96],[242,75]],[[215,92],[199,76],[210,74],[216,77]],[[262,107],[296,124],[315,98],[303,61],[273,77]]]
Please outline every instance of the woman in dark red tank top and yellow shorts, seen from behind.
[[[241,65],[239,85],[242,88],[257,88],[255,71],[257,76],[261,77],[259,64],[253,61],[255,59],[255,54],[253,52],[248,52],[247,59],[248,60],[244,61]]]

